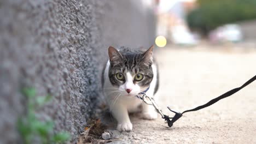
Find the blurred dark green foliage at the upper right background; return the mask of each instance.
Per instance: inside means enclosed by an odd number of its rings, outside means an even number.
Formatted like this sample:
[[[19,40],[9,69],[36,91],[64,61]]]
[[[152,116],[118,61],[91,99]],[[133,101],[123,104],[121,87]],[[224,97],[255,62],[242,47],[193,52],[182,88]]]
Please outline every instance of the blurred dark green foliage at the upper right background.
[[[191,29],[203,34],[226,23],[256,19],[256,0],[197,0],[197,3],[187,21]]]

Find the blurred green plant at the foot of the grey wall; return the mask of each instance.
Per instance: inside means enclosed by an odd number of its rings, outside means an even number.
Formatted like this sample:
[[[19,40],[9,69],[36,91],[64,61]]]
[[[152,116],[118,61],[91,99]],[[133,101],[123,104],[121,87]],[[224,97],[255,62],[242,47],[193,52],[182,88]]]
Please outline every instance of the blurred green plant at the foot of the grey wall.
[[[35,88],[23,88],[21,92],[27,98],[27,113],[19,118],[17,127],[24,143],[30,144],[36,139],[41,143],[64,143],[69,140],[70,135],[67,132],[54,134],[52,120],[43,122],[36,115],[38,107],[48,103],[52,99],[51,95],[36,97]]]

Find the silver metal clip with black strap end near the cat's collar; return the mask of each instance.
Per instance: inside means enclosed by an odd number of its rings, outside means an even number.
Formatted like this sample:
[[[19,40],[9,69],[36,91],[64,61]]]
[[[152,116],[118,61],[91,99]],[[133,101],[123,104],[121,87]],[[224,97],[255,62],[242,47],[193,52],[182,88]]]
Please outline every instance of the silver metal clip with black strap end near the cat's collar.
[[[147,99],[150,100],[151,104],[149,103],[149,101],[148,101]],[[161,117],[162,117],[163,119],[165,119],[165,121],[168,123],[168,127],[172,127],[173,123],[176,122],[179,118],[182,117],[182,113],[173,111],[173,110],[171,110],[171,108],[168,107],[168,106],[167,106],[167,108],[168,108],[171,112],[175,113],[175,115],[174,115],[174,117],[169,117],[169,116],[167,116],[167,115],[164,115],[164,113],[162,113],[161,108],[155,103],[154,98],[148,97],[145,93],[143,94],[142,100],[144,101],[144,103],[146,103],[146,104],[148,104],[148,105],[153,105],[153,106],[155,107],[156,112],[158,112],[158,113],[161,115]]]

